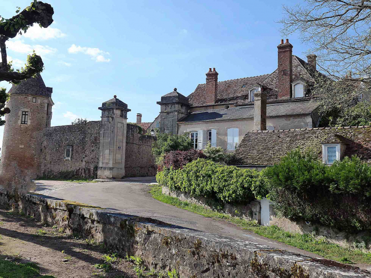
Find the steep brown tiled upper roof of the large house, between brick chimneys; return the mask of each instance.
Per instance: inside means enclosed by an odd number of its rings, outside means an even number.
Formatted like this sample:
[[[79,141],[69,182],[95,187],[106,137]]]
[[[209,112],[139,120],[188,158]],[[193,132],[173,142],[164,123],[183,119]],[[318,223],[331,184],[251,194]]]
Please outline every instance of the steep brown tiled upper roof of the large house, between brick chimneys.
[[[302,78],[308,83],[314,83],[315,71],[312,71],[310,66],[300,59],[299,57],[292,55],[292,71],[293,71],[293,82]],[[254,84],[261,84],[265,87],[265,92],[268,95],[268,100],[277,99],[278,95],[278,78],[277,70],[271,74],[264,74],[253,77],[245,77],[239,79],[231,79],[227,81],[218,82],[218,98],[215,103],[227,103],[227,102],[248,102],[249,89]],[[246,85],[242,88],[242,85]],[[206,84],[199,84],[195,91],[188,96],[189,103],[191,106],[202,106],[206,105]]]

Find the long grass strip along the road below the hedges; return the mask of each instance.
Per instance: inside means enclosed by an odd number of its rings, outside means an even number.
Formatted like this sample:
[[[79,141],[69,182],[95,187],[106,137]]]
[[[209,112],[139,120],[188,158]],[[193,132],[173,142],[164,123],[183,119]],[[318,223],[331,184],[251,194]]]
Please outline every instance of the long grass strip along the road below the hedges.
[[[151,186],[150,194],[156,200],[167,203],[178,208],[186,209],[194,213],[203,215],[204,217],[220,218],[226,221],[237,224],[246,230],[253,231],[254,233],[264,236],[266,238],[274,239],[286,243],[296,248],[312,252],[324,258],[347,263],[365,263],[371,264],[371,253],[364,252],[360,249],[343,248],[338,244],[330,243],[325,237],[318,237],[314,234],[298,234],[285,232],[277,226],[260,226],[255,221],[246,221],[237,217],[230,217],[227,214],[206,209],[203,206],[191,204],[188,202],[180,201],[168,195],[162,194],[162,188],[159,185]]]

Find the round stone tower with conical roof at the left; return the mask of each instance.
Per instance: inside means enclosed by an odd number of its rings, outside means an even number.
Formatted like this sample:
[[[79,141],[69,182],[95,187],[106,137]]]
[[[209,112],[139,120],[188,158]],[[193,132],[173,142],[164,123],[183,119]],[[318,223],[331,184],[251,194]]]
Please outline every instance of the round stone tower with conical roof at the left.
[[[52,88],[41,75],[21,81],[9,90],[5,116],[0,178],[8,189],[40,175],[43,129],[50,127]]]

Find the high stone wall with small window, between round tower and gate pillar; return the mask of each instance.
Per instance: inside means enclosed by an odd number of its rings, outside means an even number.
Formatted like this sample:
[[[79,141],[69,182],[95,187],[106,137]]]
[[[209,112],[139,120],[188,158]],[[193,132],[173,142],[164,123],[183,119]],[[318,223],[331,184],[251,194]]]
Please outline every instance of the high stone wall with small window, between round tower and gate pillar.
[[[96,178],[100,132],[101,121],[45,128],[41,153],[42,176]],[[72,146],[71,160],[65,160],[68,145]]]

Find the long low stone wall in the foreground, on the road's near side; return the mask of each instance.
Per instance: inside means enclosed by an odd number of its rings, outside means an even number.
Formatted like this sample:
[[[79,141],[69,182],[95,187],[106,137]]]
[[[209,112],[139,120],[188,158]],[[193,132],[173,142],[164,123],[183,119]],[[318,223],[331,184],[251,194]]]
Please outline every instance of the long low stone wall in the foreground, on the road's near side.
[[[1,189],[0,204],[104,242],[120,255],[140,256],[151,269],[175,268],[180,277],[371,277],[368,271],[328,260],[42,195],[18,196]]]

